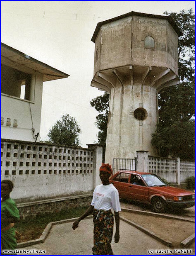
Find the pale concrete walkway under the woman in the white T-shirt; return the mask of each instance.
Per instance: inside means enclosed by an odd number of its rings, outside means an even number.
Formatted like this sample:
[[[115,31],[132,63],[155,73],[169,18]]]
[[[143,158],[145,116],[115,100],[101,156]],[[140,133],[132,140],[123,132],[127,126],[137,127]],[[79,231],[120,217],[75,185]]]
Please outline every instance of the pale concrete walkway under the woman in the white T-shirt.
[[[84,219],[75,231],[72,229],[72,222],[54,225],[43,244],[17,250],[34,250],[33,253],[18,253],[18,255],[44,255],[35,253],[35,250],[38,252],[45,250],[45,255],[92,255],[92,246],[93,219]],[[156,255],[155,249],[171,250],[122,220],[120,242],[116,244],[112,240],[112,249],[115,255],[153,255],[153,252]],[[148,250],[151,250],[149,254]]]

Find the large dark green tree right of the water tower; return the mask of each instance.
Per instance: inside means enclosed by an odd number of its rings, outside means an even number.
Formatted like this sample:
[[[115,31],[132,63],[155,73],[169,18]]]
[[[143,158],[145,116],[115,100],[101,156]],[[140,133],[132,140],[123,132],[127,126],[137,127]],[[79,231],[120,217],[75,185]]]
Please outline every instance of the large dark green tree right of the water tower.
[[[164,88],[158,95],[159,123],[152,134],[152,145],[160,156],[194,159],[195,121],[195,21],[192,9],[170,15],[182,31],[179,37],[178,76],[181,83]]]

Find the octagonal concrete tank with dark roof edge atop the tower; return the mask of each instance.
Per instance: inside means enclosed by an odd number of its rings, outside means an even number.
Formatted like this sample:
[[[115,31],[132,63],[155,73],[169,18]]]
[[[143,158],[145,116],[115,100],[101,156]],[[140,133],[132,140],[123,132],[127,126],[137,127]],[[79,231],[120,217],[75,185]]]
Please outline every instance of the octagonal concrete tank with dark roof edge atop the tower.
[[[170,68],[177,74],[178,35],[170,17],[129,12],[97,24],[94,75],[126,65]]]

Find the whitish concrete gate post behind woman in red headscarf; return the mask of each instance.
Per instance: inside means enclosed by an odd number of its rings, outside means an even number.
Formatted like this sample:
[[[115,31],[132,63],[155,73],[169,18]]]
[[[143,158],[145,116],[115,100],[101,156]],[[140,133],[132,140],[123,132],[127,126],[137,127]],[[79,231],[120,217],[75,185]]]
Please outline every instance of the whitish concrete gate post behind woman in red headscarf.
[[[100,144],[86,144],[88,149],[94,150],[93,155],[93,189],[96,188],[97,185],[101,184],[101,180],[99,178],[99,168],[102,164],[102,154],[103,154],[103,146]]]

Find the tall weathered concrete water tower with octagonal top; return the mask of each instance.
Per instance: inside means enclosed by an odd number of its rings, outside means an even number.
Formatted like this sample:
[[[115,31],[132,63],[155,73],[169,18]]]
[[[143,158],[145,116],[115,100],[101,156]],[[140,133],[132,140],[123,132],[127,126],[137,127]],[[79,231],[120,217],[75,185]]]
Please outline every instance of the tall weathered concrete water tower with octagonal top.
[[[151,134],[158,122],[158,92],[177,85],[178,35],[171,17],[129,12],[99,22],[91,86],[110,93],[105,163],[157,156]]]

